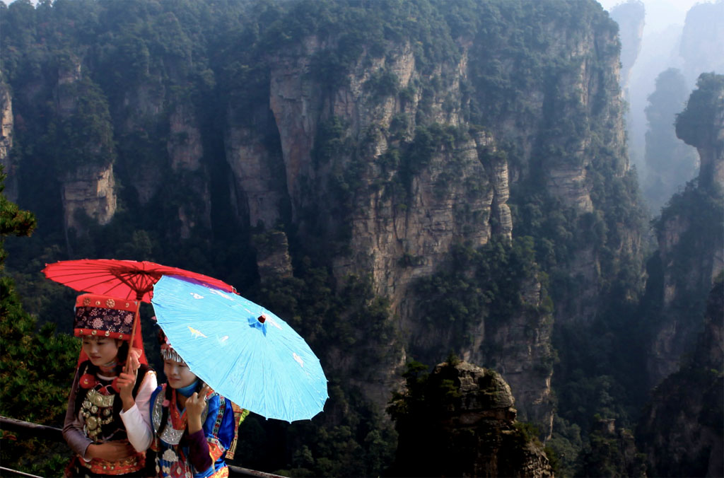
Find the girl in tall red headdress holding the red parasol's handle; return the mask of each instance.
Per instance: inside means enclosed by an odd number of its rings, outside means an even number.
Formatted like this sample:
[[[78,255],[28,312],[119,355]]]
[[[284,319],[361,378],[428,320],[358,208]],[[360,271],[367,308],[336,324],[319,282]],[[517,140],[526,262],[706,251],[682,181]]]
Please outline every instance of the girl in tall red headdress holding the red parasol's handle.
[[[106,295],[76,300],[73,328],[83,347],[63,427],[74,452],[67,477],[148,474],[149,410],[157,382],[156,372],[141,363],[143,349],[130,351],[137,309],[134,301]]]

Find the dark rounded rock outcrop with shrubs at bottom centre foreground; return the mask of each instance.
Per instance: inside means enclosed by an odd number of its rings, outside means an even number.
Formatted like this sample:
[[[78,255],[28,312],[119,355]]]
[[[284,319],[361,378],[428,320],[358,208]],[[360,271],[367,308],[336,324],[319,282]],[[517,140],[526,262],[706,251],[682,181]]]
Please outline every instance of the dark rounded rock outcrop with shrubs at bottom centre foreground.
[[[542,445],[516,422],[510,386],[496,372],[446,362],[423,382],[408,380],[405,394],[392,403],[396,476],[553,476]],[[418,408],[419,395],[432,404]]]

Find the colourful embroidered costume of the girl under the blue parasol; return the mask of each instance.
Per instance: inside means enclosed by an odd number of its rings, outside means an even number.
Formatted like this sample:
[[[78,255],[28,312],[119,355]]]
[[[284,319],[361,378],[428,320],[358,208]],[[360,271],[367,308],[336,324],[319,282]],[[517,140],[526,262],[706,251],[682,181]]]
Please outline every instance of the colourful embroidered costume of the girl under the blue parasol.
[[[151,450],[156,452],[156,473],[159,477],[169,478],[222,478],[229,476],[229,469],[224,461],[224,453],[230,447],[234,438],[234,413],[230,401],[221,395],[214,393],[209,396],[206,414],[201,415],[203,422],[203,434],[209,443],[209,454],[213,465],[209,469],[198,471],[193,469],[190,462],[190,440],[185,422],[173,424],[170,416],[164,431],[160,432],[161,415],[165,399],[167,384],[161,385],[151,397],[151,423],[155,436],[151,444]],[[176,394],[174,390],[172,398]],[[175,407],[175,400],[165,404]],[[180,413],[185,415],[185,409]],[[175,422],[175,420],[174,420]],[[175,443],[174,443],[175,442]]]

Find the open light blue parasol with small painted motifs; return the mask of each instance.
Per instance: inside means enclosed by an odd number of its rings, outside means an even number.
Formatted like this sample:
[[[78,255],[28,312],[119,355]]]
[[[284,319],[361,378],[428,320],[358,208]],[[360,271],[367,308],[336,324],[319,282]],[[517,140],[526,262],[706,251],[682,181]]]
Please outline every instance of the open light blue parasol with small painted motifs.
[[[286,322],[240,295],[164,276],[153,286],[156,320],[191,371],[216,392],[267,419],[311,419],[327,377]]]

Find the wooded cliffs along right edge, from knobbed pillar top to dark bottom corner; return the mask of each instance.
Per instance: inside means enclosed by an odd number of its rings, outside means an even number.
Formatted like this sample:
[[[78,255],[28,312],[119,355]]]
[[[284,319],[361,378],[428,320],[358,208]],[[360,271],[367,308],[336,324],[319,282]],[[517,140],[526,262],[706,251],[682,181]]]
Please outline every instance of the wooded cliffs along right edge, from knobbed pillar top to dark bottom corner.
[[[647,348],[665,347],[681,356],[678,362],[670,356],[647,357],[657,372],[649,380],[657,387],[636,438],[647,454],[649,474],[656,476],[717,476],[724,470],[720,453],[712,452],[724,443],[722,274],[712,281],[721,268],[724,243],[724,195],[712,171],[722,161],[722,142],[712,132],[720,128],[723,111],[724,76],[702,74],[676,118],[676,134],[704,151],[702,170],[653,222],[659,250],[647,268],[652,280],[641,301],[642,334]],[[678,334],[667,332],[672,329]],[[656,366],[665,361],[662,373]]]

